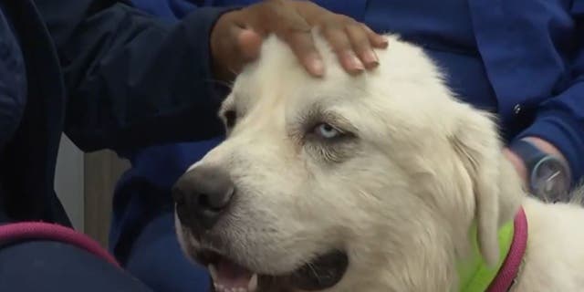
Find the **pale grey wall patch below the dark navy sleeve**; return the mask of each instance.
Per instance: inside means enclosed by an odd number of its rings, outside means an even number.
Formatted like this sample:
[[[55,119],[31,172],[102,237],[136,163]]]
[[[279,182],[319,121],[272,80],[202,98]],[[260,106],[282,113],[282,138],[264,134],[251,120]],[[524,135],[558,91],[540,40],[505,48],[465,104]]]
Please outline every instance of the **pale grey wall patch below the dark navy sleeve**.
[[[65,135],[57,157],[55,192],[65,206],[73,226],[84,231],[84,159],[80,151]]]

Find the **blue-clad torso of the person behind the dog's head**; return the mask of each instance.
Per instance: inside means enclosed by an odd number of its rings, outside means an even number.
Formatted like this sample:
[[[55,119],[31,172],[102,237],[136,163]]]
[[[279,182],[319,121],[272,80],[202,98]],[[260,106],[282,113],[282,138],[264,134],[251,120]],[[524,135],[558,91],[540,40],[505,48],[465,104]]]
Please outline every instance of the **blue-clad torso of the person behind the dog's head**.
[[[257,2],[190,1],[197,5]],[[568,62],[577,38],[570,0],[314,2],[422,46],[443,68],[460,99],[499,114],[507,140],[525,129],[537,105],[566,89],[571,78]]]

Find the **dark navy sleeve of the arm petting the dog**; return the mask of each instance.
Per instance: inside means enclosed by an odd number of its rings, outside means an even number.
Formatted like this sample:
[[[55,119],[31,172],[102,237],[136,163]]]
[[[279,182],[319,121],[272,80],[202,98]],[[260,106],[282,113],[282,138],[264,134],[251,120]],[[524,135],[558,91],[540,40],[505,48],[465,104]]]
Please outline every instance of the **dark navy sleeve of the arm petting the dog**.
[[[113,0],[36,0],[60,58],[65,130],[84,151],[131,150],[223,132],[209,35],[232,8],[199,8],[181,22]]]

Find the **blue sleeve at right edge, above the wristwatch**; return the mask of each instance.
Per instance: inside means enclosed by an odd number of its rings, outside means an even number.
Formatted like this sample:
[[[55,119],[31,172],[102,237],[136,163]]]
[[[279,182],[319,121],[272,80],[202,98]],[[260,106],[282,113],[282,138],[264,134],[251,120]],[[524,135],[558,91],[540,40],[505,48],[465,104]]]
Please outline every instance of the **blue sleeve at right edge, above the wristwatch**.
[[[534,136],[555,145],[568,160],[574,183],[584,179],[584,1],[574,1],[572,14],[578,46],[570,64],[571,85],[539,105],[535,122],[516,139]]]

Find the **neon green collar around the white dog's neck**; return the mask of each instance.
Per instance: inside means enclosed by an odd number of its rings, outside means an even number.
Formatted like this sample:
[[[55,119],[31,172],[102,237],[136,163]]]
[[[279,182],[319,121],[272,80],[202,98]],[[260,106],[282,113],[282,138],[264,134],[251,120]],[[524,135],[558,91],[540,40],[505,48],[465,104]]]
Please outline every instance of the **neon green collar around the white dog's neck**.
[[[473,235],[472,238],[474,238],[472,255],[464,261],[459,261],[457,263],[460,292],[486,291],[491,282],[493,282],[499,269],[503,266],[511,243],[513,242],[513,220],[499,229],[498,239],[500,256],[499,262],[495,267],[491,268],[487,266],[483,256],[479,252],[478,244],[476,242],[475,226],[471,231],[471,235]]]

